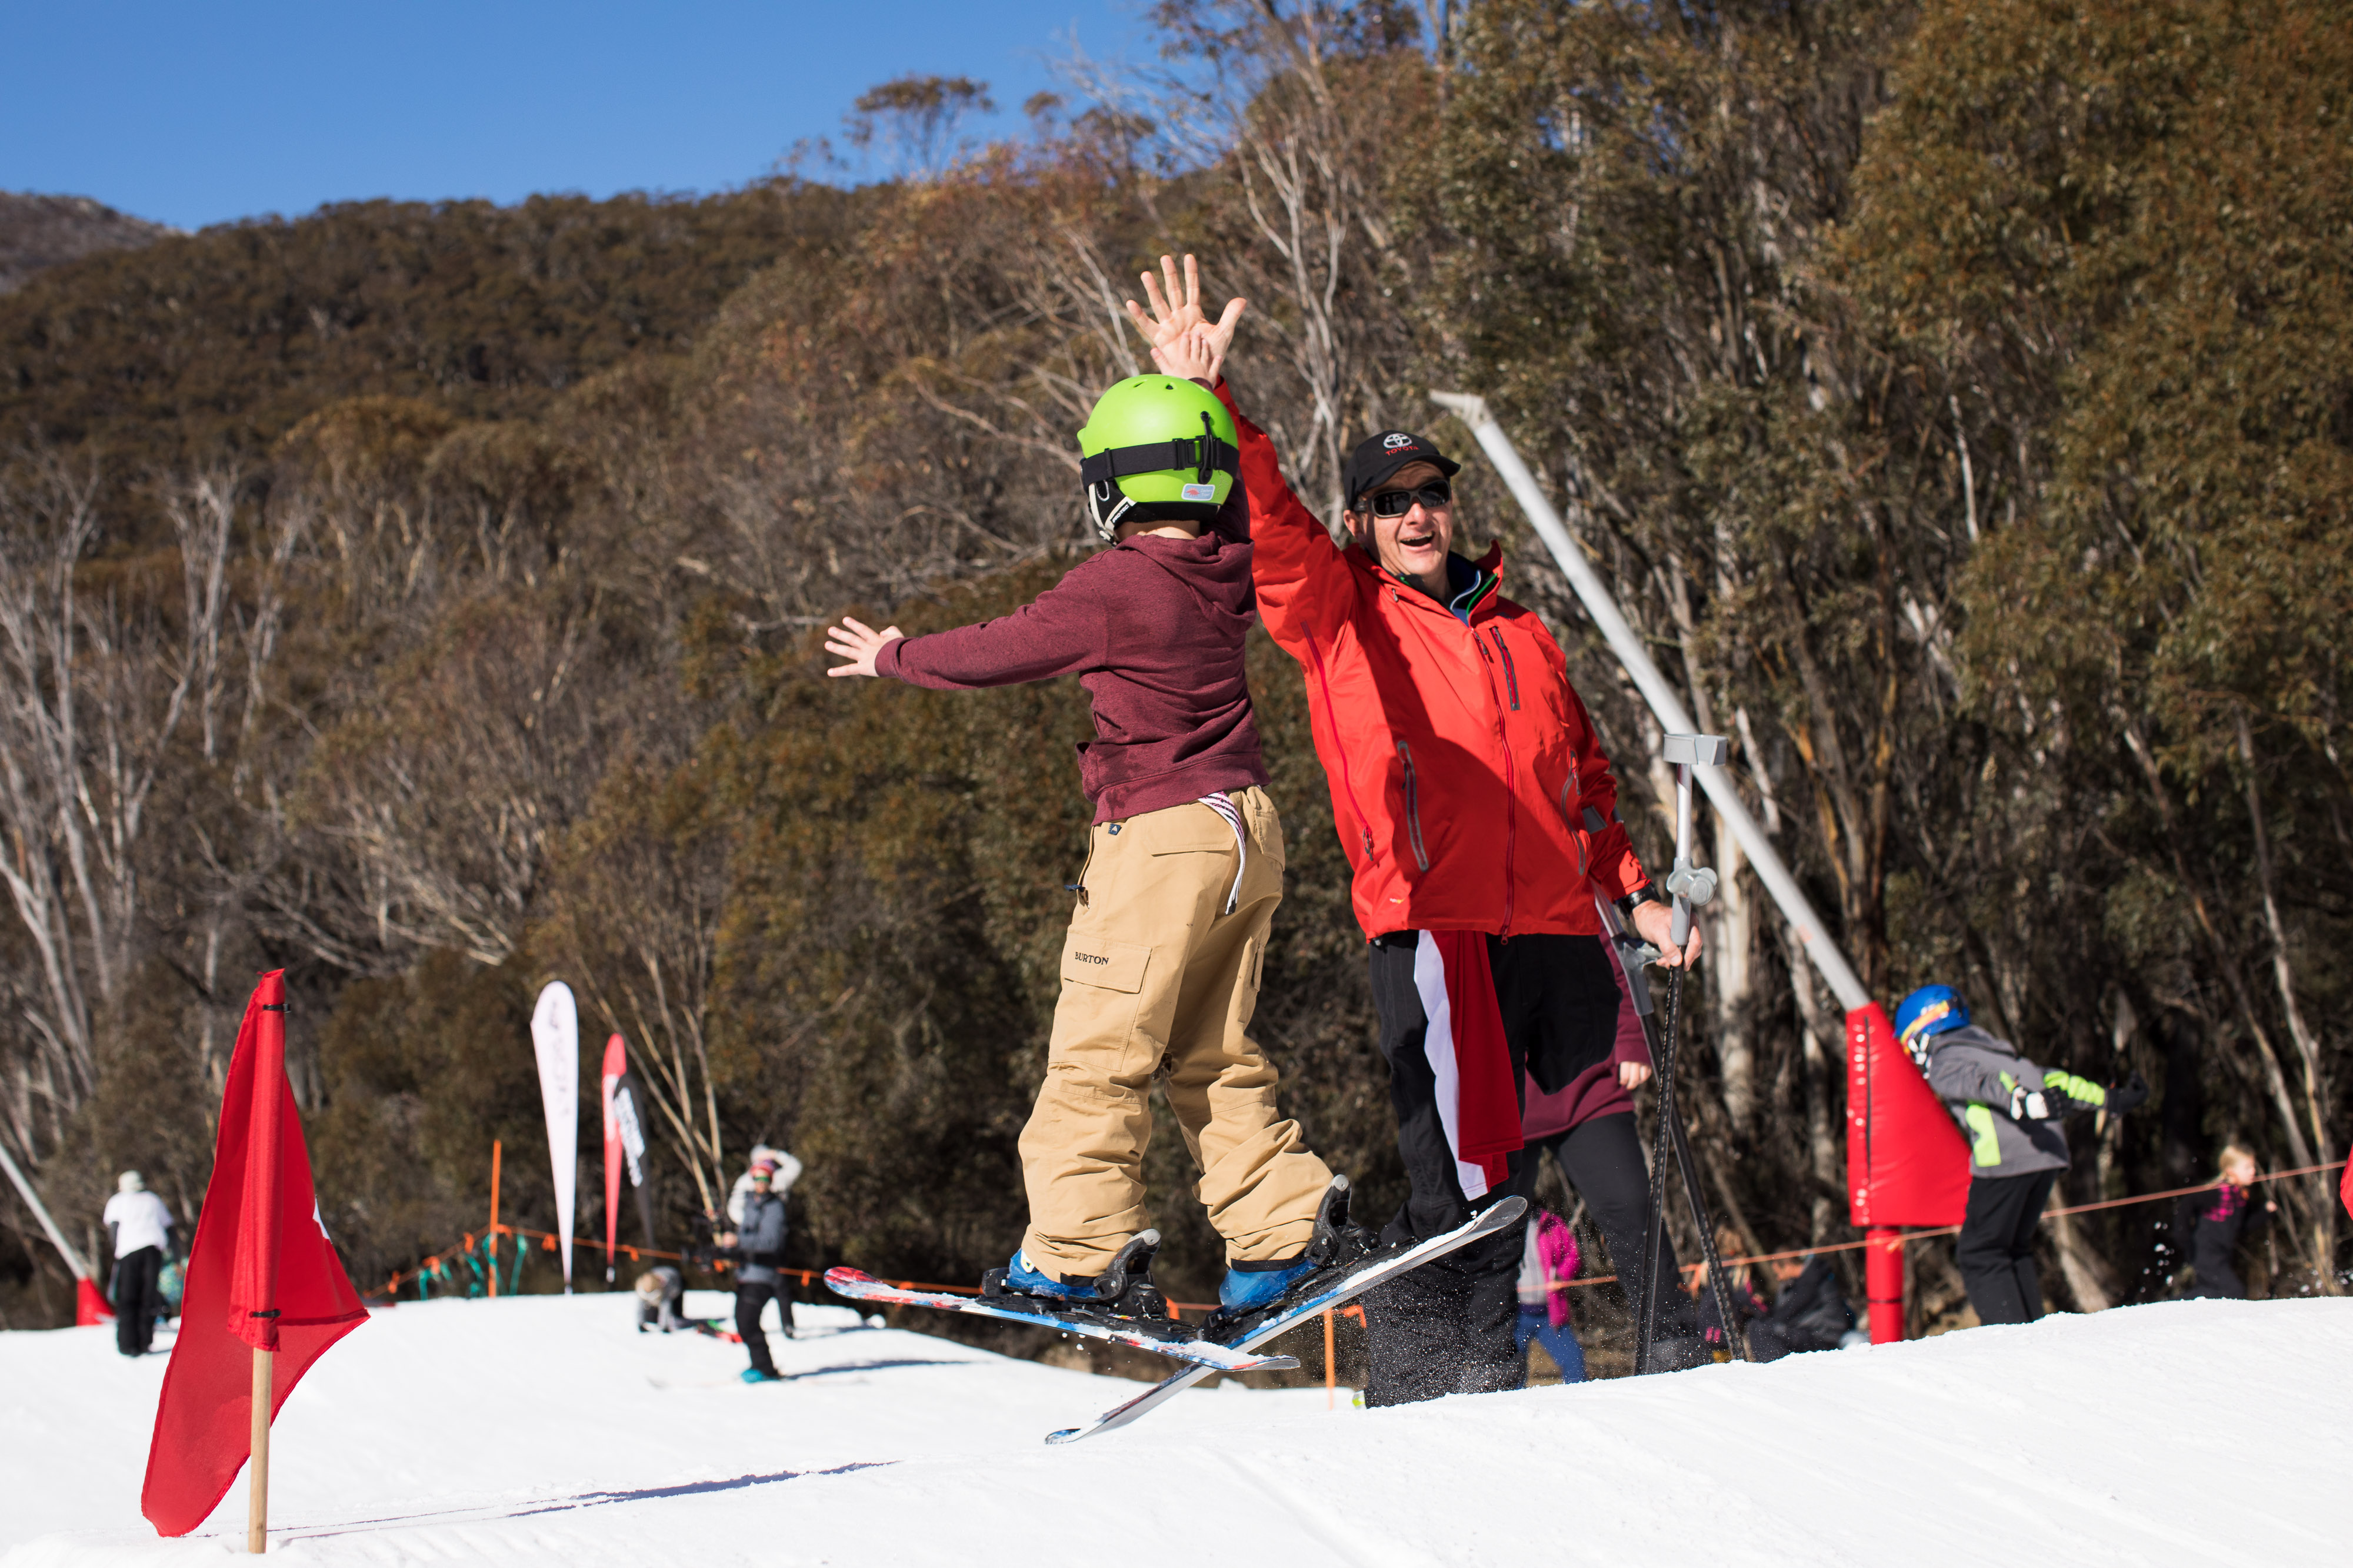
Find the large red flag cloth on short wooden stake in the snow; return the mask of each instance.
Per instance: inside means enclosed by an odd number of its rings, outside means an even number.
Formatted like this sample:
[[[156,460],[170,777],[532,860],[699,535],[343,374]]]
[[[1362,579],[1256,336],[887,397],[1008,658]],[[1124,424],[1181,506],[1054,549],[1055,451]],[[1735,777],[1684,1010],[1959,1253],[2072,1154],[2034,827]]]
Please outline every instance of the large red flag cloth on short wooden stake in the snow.
[[[252,1443],[254,1352],[275,1352],[271,1415],[367,1319],[327,1241],[287,1084],[285,971],[261,976],[221,1095],[212,1185],[188,1248],[139,1512],[160,1535],[205,1523]]]

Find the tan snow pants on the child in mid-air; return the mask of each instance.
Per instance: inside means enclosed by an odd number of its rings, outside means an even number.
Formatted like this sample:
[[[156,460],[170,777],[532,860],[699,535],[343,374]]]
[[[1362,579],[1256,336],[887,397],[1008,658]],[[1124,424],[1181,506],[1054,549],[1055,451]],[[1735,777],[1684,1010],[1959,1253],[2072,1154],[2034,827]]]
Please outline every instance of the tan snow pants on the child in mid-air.
[[[1289,1258],[1315,1229],[1332,1173],[1278,1112],[1278,1074],[1249,1039],[1266,929],[1282,903],[1282,820],[1266,790],[1228,795],[1249,846],[1233,914],[1235,837],[1209,806],[1092,830],[1045,1086],[1021,1131],[1021,1251],[1047,1274],[1101,1274],[1148,1225],[1155,1077],[1228,1262]]]

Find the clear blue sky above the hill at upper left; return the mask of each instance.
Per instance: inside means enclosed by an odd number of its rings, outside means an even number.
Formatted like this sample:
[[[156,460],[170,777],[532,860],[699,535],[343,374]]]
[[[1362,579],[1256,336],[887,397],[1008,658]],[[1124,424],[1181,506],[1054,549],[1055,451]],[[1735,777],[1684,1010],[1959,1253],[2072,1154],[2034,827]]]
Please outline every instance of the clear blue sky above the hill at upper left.
[[[1144,0],[0,0],[0,190],[200,228],[320,202],[715,190],[866,87],[991,85],[1000,127],[1047,61],[1148,56]],[[852,165],[849,174],[856,174]]]

